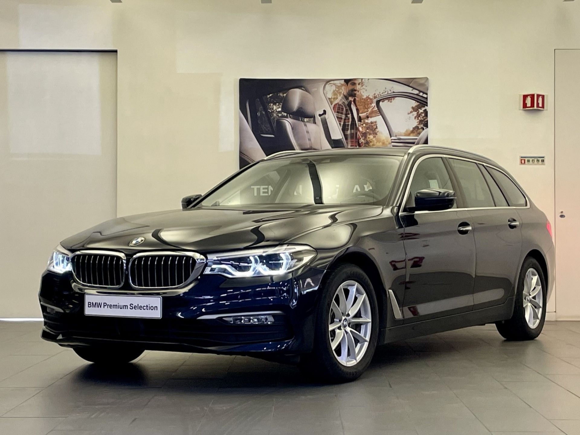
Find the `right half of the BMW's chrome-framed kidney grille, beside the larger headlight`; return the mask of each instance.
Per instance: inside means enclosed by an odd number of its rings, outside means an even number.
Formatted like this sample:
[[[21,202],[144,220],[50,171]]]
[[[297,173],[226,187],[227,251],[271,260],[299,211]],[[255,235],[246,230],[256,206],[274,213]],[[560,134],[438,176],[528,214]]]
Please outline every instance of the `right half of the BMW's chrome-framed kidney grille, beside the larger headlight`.
[[[129,263],[133,288],[177,288],[200,276],[204,256],[195,252],[142,252]]]

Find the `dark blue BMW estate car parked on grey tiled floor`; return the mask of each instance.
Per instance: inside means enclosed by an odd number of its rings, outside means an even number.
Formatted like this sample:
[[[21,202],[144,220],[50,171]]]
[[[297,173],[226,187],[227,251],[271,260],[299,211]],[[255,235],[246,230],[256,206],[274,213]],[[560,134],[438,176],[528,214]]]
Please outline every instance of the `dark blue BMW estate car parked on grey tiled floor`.
[[[182,209],[60,242],[42,275],[42,338],[97,364],[241,354],[343,382],[394,340],[490,322],[536,338],[553,263],[546,216],[488,158],[288,151]]]

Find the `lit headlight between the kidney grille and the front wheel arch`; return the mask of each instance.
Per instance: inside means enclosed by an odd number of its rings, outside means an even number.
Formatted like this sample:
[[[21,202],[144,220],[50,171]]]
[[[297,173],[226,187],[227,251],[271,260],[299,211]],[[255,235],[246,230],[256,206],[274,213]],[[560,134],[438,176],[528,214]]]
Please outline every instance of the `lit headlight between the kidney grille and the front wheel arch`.
[[[306,245],[216,253],[208,255],[204,274],[229,278],[281,275],[298,269],[314,256],[316,250]]]

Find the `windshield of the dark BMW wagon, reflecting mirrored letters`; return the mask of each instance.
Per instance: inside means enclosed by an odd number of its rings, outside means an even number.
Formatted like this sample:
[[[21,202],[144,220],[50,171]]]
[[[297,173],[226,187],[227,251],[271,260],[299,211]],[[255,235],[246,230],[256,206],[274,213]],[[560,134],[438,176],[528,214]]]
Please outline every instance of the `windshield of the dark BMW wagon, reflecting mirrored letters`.
[[[266,160],[231,179],[202,206],[385,205],[398,155],[318,155]]]

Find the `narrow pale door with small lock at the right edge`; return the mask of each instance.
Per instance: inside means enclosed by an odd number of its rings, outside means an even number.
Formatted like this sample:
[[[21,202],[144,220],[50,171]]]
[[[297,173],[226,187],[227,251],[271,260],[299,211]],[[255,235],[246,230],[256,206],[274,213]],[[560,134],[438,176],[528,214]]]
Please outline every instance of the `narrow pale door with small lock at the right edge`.
[[[580,50],[556,50],[554,61],[556,319],[580,320]]]

